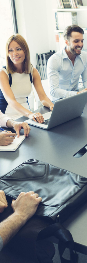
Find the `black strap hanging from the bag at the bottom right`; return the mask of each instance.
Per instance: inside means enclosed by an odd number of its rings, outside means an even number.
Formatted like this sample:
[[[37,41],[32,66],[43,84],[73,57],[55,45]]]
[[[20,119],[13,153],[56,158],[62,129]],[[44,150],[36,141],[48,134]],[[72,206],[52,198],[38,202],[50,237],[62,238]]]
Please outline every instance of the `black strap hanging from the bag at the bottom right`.
[[[75,250],[75,244],[73,237],[67,229],[64,228],[59,222],[52,224],[42,231],[40,231],[38,235],[38,239],[55,236],[59,239],[59,255],[61,259],[61,263],[78,263],[78,254]],[[69,248],[70,251],[70,260],[64,259],[63,253],[66,248]],[[73,252],[75,250],[75,253]]]

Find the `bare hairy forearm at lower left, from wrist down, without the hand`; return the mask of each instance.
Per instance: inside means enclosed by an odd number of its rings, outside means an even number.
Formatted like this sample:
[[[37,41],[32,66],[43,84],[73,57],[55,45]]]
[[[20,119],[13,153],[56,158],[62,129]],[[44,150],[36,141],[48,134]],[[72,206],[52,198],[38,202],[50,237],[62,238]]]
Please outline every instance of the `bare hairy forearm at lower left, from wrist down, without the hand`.
[[[3,246],[8,243],[24,224],[25,221],[16,213],[13,213],[0,223],[0,236],[3,240]]]

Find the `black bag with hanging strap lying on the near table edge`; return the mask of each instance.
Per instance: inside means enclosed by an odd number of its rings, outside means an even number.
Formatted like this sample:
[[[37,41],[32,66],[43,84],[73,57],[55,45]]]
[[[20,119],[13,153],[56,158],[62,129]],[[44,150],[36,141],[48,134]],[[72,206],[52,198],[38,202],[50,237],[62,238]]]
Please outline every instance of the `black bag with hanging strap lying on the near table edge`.
[[[77,263],[78,255],[72,235],[60,223],[87,200],[87,178],[53,165],[30,159],[0,178],[1,190],[17,198],[21,191],[34,191],[42,197],[35,215],[28,222],[30,253],[36,257],[36,241],[48,236],[59,238],[59,254],[62,263]],[[62,257],[66,247],[70,249],[70,261]]]

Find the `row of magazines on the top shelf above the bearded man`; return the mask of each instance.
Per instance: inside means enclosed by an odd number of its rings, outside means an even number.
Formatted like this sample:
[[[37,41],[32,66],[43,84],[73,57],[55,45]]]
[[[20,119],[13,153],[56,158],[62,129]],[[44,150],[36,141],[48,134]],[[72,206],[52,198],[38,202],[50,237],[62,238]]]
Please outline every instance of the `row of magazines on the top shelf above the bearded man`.
[[[83,6],[81,0],[57,0],[58,8],[79,8]]]

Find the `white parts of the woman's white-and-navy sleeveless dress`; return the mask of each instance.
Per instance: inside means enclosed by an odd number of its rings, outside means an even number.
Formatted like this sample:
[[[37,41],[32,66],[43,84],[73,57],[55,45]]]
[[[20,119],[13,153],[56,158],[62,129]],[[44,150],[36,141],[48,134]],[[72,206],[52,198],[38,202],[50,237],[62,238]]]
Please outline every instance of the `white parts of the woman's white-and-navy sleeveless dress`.
[[[8,75],[8,72],[5,68],[1,68],[1,69]],[[11,76],[12,76],[12,85],[10,88],[12,89],[12,92],[14,93],[17,102],[19,102],[27,110],[30,110],[26,98],[30,95],[32,91],[30,75],[24,72],[21,74],[15,72],[14,74],[11,74]],[[8,75],[8,79],[9,79],[9,75]],[[16,120],[23,116],[17,113],[16,110],[10,108],[9,105],[6,108],[5,114],[8,115],[13,120]]]

